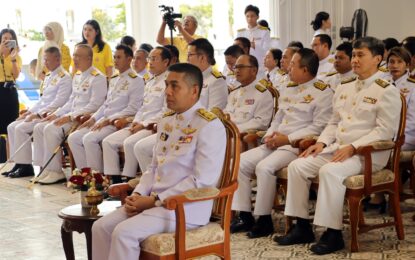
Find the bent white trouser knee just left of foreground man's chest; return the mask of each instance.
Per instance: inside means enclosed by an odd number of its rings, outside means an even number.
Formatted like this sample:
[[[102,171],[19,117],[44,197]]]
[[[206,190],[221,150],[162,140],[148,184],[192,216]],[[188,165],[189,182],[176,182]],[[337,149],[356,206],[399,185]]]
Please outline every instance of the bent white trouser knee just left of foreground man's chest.
[[[157,142],[157,134],[147,136],[134,145],[134,154],[142,172],[145,172],[153,159],[153,148]]]

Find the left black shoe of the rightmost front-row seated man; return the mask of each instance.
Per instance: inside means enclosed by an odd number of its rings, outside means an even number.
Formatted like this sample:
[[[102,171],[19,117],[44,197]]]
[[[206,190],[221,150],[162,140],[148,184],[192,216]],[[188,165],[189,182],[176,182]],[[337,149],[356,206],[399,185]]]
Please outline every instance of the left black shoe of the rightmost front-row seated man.
[[[300,227],[294,225],[285,236],[274,237],[274,241],[280,246],[290,246],[295,244],[308,244],[314,242],[315,237],[311,225]]]

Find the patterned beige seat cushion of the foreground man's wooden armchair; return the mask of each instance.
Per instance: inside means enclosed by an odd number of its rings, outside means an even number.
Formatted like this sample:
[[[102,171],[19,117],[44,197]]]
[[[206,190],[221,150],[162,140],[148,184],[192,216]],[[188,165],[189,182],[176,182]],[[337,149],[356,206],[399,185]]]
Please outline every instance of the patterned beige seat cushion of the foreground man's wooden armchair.
[[[186,231],[186,250],[219,244],[223,241],[224,232],[218,223],[210,222],[206,226]],[[174,254],[175,233],[149,236],[141,243],[141,250],[158,256]]]

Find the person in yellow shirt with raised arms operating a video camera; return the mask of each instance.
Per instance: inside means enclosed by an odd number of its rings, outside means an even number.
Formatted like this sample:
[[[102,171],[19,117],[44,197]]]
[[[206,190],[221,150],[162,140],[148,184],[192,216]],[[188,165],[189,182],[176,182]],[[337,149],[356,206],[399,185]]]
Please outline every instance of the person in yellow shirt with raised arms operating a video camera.
[[[160,26],[160,30],[157,34],[157,43],[161,45],[174,45],[179,50],[179,62],[185,62],[187,60],[187,46],[193,40],[201,38],[201,36],[196,35],[197,29],[197,20],[194,16],[188,15],[183,19],[183,23],[178,20],[174,21],[174,27],[179,30],[179,34],[176,37],[173,37],[173,43],[169,38],[164,36],[164,31],[166,30],[167,21],[163,16],[163,21]]]

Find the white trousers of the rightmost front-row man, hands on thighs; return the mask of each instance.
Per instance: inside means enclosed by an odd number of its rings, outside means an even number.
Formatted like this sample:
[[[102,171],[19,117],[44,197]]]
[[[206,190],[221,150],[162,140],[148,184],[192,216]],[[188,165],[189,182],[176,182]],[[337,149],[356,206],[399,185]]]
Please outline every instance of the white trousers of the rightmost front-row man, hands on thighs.
[[[343,181],[362,172],[363,161],[355,155],[343,162],[331,162],[332,153],[298,158],[288,166],[288,189],[284,214],[309,218],[310,179],[319,177],[314,224],[333,229],[343,227],[343,204],[346,186]],[[386,162],[385,162],[386,165]],[[385,165],[372,165],[373,171]]]

